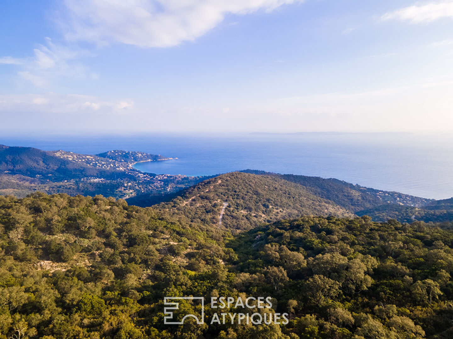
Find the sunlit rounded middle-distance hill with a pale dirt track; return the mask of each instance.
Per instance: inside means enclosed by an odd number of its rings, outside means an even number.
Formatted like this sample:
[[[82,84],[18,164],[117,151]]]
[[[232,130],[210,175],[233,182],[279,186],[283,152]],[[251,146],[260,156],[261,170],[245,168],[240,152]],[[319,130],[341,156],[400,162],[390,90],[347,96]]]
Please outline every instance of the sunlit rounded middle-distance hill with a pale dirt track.
[[[205,180],[155,207],[191,222],[217,225],[224,203],[228,205],[222,225],[238,230],[303,215],[353,216],[344,207],[313,195],[299,184],[242,172]]]

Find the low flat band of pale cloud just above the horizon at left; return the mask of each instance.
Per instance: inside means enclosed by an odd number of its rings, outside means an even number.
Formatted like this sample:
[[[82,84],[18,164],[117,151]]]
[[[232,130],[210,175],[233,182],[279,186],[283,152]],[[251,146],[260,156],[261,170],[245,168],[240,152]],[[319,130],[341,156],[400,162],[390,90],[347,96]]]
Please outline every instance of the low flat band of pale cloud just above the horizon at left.
[[[91,95],[48,93],[0,96],[0,112],[4,113],[121,113],[133,107],[132,101],[106,101]]]

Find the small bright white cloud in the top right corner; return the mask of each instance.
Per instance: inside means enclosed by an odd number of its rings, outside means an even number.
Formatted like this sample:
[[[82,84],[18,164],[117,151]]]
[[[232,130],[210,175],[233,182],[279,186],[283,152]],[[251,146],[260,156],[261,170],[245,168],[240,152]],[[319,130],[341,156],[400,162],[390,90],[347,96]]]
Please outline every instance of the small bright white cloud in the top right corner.
[[[413,24],[429,23],[438,19],[453,19],[453,1],[432,1],[386,13],[383,20],[397,19]]]

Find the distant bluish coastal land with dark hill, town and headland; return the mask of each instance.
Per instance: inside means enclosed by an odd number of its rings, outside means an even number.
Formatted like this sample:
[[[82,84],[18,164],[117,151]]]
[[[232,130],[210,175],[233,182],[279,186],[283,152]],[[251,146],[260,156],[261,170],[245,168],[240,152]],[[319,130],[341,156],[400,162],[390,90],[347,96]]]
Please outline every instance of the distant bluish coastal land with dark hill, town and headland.
[[[128,151],[110,151],[101,155],[106,157],[0,145],[0,195],[23,198],[41,191],[70,195],[102,194],[115,198],[150,193],[161,197],[204,179],[142,173],[132,167],[137,161],[168,159],[161,155]]]

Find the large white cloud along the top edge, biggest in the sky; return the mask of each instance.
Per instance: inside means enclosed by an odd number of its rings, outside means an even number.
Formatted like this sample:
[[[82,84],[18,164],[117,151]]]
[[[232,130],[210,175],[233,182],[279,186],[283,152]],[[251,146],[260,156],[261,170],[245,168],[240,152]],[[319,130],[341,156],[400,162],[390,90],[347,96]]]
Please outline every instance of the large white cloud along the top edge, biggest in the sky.
[[[65,0],[60,24],[70,40],[171,47],[193,41],[226,14],[271,11],[302,0]]]

